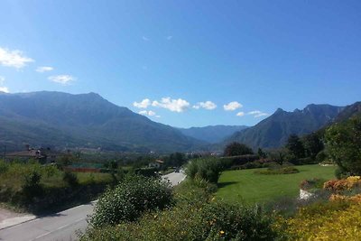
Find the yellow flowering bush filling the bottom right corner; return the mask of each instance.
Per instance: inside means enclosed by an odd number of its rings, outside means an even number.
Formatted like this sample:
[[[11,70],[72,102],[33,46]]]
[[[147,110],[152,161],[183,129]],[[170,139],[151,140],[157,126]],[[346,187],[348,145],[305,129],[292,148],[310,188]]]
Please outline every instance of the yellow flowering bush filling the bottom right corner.
[[[361,240],[361,202],[330,201],[299,209],[293,218],[280,218],[289,240]]]

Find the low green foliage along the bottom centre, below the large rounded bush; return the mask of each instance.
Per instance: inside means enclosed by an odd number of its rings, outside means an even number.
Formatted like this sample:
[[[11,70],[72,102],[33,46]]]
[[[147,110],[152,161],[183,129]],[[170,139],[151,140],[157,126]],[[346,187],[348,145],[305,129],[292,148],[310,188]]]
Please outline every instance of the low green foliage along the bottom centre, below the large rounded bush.
[[[274,240],[273,216],[259,207],[211,199],[199,184],[177,190],[171,209],[145,213],[137,222],[90,228],[81,240]]]

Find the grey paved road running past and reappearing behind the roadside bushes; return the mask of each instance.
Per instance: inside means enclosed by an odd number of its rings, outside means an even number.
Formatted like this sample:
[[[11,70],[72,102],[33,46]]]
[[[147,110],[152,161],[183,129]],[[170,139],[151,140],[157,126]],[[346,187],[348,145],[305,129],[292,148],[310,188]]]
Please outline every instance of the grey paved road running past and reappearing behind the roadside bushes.
[[[183,181],[183,172],[164,175],[172,186]],[[0,240],[9,241],[44,241],[44,240],[77,240],[76,231],[84,231],[88,227],[87,216],[93,212],[94,204],[80,205],[55,215],[37,218],[14,227],[0,230]]]

